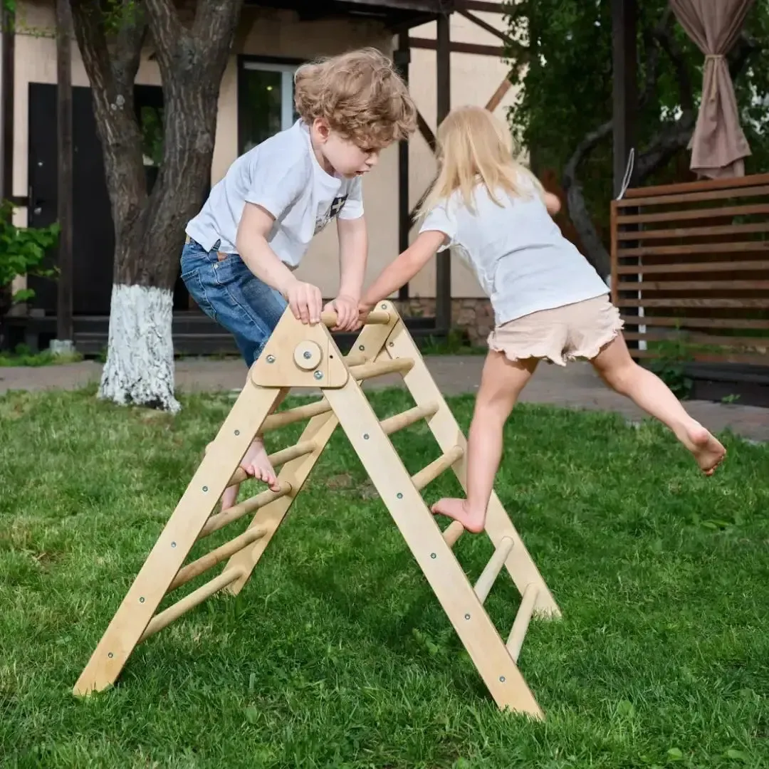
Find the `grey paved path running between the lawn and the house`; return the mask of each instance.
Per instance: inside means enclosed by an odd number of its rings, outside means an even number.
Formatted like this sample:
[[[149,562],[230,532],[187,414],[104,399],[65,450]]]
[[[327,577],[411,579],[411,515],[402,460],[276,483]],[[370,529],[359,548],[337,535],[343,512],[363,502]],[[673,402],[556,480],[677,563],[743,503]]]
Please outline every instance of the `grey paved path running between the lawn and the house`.
[[[428,355],[424,358],[438,387],[446,395],[474,392],[481,381],[481,355]],[[102,366],[93,361],[39,368],[0,368],[0,394],[8,390],[77,389],[98,381]],[[182,391],[240,389],[246,370],[242,361],[188,358],[176,362],[176,386]],[[398,375],[366,383],[367,388],[399,384]],[[524,390],[522,401],[565,408],[616,411],[631,420],[646,414],[631,401],[604,386],[587,363],[565,369],[541,365]],[[769,441],[769,409],[740,404],[687,401],[687,411],[711,431],[730,428],[752,441]]]

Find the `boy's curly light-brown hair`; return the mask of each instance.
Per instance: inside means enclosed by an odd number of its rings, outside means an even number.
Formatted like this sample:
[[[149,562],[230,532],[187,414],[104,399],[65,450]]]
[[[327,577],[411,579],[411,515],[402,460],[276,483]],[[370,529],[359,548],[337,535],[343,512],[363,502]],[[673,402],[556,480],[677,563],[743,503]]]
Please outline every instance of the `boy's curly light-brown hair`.
[[[384,147],[408,138],[417,110],[391,60],[376,48],[360,48],[301,65],[294,102],[311,124],[325,118],[331,129],[358,146]]]

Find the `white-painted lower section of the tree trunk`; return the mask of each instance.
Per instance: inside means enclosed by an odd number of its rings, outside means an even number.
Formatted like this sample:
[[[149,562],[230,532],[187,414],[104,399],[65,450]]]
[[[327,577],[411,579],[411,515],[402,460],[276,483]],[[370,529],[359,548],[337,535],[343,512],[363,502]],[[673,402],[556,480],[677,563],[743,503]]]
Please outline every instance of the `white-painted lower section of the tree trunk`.
[[[150,286],[112,286],[107,362],[98,397],[176,414],[173,292]]]

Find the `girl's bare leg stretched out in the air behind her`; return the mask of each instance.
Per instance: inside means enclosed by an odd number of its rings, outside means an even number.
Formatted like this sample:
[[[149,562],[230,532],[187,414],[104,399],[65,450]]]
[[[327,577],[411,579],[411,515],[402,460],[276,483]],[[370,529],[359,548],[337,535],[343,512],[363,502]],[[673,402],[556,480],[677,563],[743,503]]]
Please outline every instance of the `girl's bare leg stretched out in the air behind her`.
[[[726,449],[698,421],[692,418],[667,384],[657,375],[639,366],[618,335],[591,361],[601,378],[612,389],[627,395],[674,432],[676,438],[694,454],[706,475],[712,475],[726,455]]]

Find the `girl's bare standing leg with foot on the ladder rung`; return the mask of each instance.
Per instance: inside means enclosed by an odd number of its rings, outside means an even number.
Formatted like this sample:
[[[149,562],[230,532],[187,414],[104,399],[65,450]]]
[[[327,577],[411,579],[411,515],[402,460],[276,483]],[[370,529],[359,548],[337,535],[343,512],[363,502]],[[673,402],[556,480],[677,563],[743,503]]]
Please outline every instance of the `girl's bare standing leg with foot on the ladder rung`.
[[[468,435],[468,498],[441,499],[432,506],[435,514],[460,521],[468,531],[483,531],[502,456],[502,428],[537,363],[537,358],[513,362],[504,353],[489,352]]]

